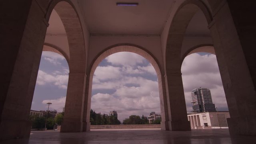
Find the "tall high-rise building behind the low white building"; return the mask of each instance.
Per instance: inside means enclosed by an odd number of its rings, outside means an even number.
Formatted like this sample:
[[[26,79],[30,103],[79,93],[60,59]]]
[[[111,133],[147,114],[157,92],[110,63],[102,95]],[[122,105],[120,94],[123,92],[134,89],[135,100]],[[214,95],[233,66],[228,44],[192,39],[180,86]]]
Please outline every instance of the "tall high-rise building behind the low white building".
[[[208,88],[196,88],[192,90],[191,96],[193,112],[216,112],[211,91]]]

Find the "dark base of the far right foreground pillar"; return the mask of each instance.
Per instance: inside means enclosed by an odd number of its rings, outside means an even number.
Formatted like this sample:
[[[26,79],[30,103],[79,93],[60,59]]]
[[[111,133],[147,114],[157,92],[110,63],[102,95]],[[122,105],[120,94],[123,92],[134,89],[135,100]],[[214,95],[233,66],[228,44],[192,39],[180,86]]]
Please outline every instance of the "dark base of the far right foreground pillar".
[[[230,136],[256,136],[256,116],[227,118]]]

